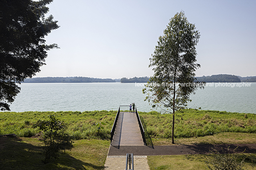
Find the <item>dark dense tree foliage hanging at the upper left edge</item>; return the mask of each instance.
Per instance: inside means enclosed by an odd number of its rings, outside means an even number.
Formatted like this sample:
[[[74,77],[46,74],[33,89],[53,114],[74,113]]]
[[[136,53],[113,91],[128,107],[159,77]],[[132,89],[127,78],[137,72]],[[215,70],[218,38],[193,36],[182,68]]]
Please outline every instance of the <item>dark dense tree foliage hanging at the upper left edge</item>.
[[[44,37],[59,28],[53,16],[45,18],[53,0],[0,0],[0,110],[10,110],[20,84],[45,65]]]

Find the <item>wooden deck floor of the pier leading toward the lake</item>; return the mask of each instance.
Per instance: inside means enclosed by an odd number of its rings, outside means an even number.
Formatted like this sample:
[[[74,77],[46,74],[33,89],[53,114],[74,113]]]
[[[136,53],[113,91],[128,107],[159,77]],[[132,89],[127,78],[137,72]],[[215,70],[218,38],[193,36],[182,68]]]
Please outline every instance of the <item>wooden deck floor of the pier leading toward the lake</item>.
[[[112,140],[113,146],[143,146],[136,113],[120,112]]]

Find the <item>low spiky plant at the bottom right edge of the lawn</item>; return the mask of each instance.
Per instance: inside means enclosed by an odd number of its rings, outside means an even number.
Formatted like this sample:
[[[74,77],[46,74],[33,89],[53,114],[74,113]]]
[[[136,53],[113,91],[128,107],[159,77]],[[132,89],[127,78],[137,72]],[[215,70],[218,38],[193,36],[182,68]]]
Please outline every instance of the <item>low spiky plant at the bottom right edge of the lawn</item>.
[[[229,151],[228,147],[228,151]],[[235,150],[237,147],[235,148]],[[234,151],[235,151],[234,150]],[[226,153],[222,148],[223,154],[214,149],[212,158],[206,158],[206,165],[210,170],[243,170],[245,157],[238,161],[237,153]]]

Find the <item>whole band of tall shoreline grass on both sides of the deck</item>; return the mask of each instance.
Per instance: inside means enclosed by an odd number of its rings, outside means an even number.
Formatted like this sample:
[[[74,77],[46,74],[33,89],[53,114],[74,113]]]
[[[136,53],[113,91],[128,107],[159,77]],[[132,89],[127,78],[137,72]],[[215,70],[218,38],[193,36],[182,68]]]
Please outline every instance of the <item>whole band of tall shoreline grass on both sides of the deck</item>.
[[[74,140],[109,139],[117,111],[86,112],[0,112],[0,134],[15,133],[20,137],[40,135],[32,124],[54,114],[68,125],[67,132]],[[151,138],[171,138],[172,115],[139,112]],[[101,122],[103,124],[101,124]],[[99,127],[100,123],[100,129]],[[106,124],[106,125],[104,125]],[[184,110],[175,115],[175,138],[190,138],[222,132],[256,133],[256,114],[219,111]]]

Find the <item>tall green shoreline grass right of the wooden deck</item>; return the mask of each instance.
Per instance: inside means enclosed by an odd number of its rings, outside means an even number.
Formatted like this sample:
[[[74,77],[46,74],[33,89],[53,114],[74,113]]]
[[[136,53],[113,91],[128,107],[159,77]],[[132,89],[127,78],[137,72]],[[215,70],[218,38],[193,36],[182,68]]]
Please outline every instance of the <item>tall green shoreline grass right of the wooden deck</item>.
[[[152,138],[171,138],[172,115],[139,113]],[[175,114],[175,138],[190,138],[222,132],[256,133],[256,115],[219,111],[184,110]]]

